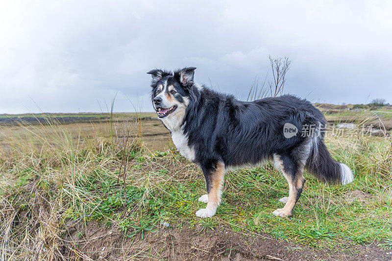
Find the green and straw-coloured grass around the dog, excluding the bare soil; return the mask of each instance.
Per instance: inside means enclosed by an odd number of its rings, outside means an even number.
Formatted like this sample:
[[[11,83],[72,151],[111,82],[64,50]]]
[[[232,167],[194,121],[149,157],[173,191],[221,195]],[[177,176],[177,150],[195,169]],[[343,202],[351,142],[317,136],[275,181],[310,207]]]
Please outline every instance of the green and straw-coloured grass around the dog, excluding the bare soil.
[[[43,133],[32,136],[37,135],[46,139]],[[195,212],[205,208],[197,201],[205,193],[203,174],[175,149],[149,152],[141,137],[125,145],[121,138],[114,137],[113,142],[99,136],[75,144],[66,132],[56,135],[50,139],[61,143],[43,142],[40,148],[16,137],[13,149],[0,154],[0,204],[12,210],[1,212],[3,258],[13,253],[14,258],[28,260],[42,242],[46,249],[55,249],[66,226],[89,220],[140,239],[166,222],[199,233],[230,226],[234,231],[267,233],[316,248],[373,240],[391,247],[390,139],[327,138],[333,157],[354,170],[355,180],[346,186],[329,186],[306,174],[304,191],[290,218],[271,214],[283,207],[278,199],[288,195],[288,184],[267,164],[227,173],[217,214],[200,219]],[[129,157],[125,179],[124,155]],[[354,200],[347,195],[352,190],[363,191],[367,197]],[[49,202],[49,209],[43,208],[42,198]],[[22,212],[30,219],[12,225]],[[50,253],[56,255],[54,250],[40,252],[41,260]]]

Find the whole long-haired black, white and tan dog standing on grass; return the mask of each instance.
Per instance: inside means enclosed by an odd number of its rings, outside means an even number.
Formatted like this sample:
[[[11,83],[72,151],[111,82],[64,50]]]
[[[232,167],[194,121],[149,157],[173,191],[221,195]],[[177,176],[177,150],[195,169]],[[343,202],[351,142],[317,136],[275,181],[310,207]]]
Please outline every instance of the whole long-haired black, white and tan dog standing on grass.
[[[195,67],[174,72],[152,70],[151,99],[158,117],[172,134],[184,157],[197,163],[205,177],[207,203],[196,212],[211,217],[221,203],[227,169],[273,160],[289,183],[283,209],[273,214],[292,214],[305,178],[304,168],[320,181],[347,184],[351,169],[336,162],[323,140],[326,120],[309,101],[292,95],[252,102],[239,101],[194,82]],[[305,133],[305,129],[313,131]]]

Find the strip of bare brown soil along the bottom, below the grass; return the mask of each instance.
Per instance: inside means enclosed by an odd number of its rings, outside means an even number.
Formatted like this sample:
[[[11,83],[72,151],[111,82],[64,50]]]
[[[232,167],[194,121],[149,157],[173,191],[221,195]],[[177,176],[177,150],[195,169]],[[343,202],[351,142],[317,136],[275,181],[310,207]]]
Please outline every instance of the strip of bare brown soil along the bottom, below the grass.
[[[229,227],[201,231],[183,224],[160,226],[142,239],[140,235],[125,237],[124,233],[95,222],[80,223],[68,228],[60,246],[67,260],[216,260],[216,261],[316,261],[316,260],[391,260],[376,242],[367,245],[346,245],[335,249],[314,249],[274,239],[267,234],[240,233]]]

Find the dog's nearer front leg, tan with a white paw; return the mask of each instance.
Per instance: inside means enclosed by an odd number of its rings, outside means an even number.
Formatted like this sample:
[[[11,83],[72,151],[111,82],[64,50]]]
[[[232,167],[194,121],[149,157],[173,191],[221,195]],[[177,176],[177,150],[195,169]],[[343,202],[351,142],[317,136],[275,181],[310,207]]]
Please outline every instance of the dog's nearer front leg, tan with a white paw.
[[[199,209],[196,212],[196,216],[211,217],[217,212],[217,208],[221,204],[225,172],[224,164],[222,162],[216,162],[212,166],[202,166],[202,170],[207,187],[208,203],[205,209]]]

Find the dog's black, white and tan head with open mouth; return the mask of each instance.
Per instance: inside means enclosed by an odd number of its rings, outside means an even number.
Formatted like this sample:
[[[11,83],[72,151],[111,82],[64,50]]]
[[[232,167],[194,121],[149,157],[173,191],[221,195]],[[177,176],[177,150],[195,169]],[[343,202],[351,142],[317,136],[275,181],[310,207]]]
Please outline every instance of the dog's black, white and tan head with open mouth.
[[[173,73],[162,70],[147,72],[152,76],[152,105],[169,129],[184,118],[194,85],[195,69],[187,67]]]

